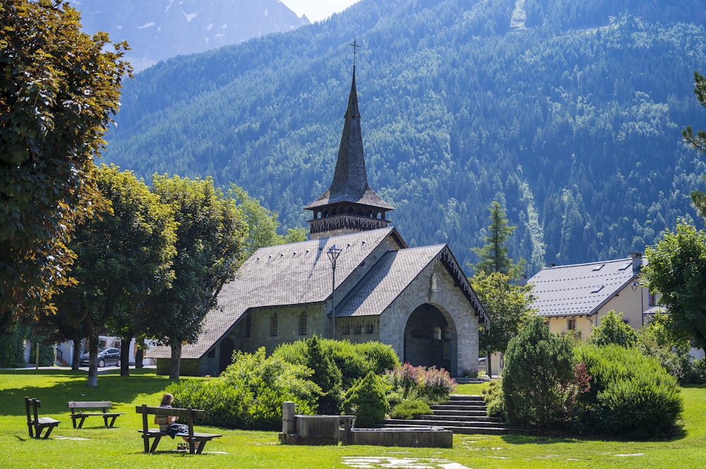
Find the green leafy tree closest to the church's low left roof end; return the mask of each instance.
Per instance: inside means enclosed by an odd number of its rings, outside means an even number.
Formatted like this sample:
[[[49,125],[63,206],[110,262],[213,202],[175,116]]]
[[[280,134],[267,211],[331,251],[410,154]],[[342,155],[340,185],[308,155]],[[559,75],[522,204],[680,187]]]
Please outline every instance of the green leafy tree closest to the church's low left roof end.
[[[178,379],[181,347],[196,341],[203,318],[232,279],[244,252],[247,227],[236,201],[215,188],[211,178],[155,174],[152,191],[172,205],[179,224],[174,281],[150,300],[152,311],[161,316],[150,334],[172,348],[169,377]]]

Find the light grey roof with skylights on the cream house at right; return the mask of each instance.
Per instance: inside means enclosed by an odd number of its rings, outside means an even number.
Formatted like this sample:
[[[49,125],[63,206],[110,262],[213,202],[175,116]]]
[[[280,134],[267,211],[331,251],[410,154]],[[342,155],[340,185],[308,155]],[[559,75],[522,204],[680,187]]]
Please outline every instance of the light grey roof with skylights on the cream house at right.
[[[530,279],[532,308],[540,316],[594,315],[639,272],[639,267],[633,270],[632,257],[545,267]]]

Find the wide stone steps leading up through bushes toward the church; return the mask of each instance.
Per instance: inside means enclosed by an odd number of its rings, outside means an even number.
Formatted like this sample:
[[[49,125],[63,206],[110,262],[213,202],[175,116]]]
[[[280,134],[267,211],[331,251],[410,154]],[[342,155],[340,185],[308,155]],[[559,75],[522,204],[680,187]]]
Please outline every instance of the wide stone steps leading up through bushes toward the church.
[[[489,417],[483,396],[451,394],[445,404],[431,406],[432,415],[416,415],[412,420],[385,419],[381,427],[443,427],[462,434],[505,434],[501,418]]]

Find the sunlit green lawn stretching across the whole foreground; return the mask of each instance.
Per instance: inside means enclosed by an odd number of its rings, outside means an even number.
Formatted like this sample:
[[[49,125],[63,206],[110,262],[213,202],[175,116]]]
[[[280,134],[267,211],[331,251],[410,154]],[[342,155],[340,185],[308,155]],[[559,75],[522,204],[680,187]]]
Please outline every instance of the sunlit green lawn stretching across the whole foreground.
[[[0,370],[0,466],[3,468],[702,468],[706,461],[706,386],[683,389],[683,431],[669,441],[601,441],[510,434],[454,435],[453,449],[380,446],[283,446],[276,432],[245,432],[198,426],[224,437],[210,441],[205,454],[192,456],[163,440],[160,451],[145,454],[138,435],[135,406],[157,405],[165,377],[154,370],[101,374],[90,389],[85,372]],[[464,384],[457,392],[479,394],[483,385]],[[61,420],[49,439],[28,437],[23,397],[42,401],[43,415]],[[107,400],[125,415],[105,429],[102,419],[88,418],[74,430],[67,401]],[[411,467],[411,466],[409,466]]]

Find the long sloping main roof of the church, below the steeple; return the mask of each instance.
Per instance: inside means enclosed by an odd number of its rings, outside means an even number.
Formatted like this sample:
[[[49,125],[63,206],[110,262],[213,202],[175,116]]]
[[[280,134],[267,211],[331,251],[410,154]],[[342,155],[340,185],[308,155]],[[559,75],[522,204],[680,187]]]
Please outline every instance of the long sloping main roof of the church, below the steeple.
[[[327,300],[331,294],[328,248],[334,244],[342,248],[336,265],[338,287],[389,236],[401,248],[407,247],[394,228],[385,228],[258,249],[238,269],[236,278],[223,286],[218,306],[204,319],[198,342],[183,346],[181,357],[201,358],[249,308]],[[155,347],[148,356],[169,358],[171,351],[168,347]]]

